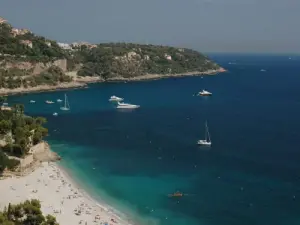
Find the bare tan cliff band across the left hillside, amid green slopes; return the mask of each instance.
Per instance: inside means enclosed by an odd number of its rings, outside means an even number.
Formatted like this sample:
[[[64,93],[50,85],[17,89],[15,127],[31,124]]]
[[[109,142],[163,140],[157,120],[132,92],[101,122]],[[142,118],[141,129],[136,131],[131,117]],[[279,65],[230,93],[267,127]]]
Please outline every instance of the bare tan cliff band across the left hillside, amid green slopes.
[[[41,72],[46,71],[52,66],[59,67],[63,72],[67,71],[67,60],[58,59],[53,62],[27,62],[27,61],[6,61],[3,60],[0,63],[1,67],[4,69],[17,68],[20,70],[28,70],[32,72],[32,75],[40,74]]]

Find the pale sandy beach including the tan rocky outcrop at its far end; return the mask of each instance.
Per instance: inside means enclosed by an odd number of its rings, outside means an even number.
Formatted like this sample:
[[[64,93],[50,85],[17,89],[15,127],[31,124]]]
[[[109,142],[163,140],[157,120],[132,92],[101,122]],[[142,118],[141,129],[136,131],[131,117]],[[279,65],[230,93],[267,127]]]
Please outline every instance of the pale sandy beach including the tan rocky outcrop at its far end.
[[[5,171],[0,177],[0,210],[9,203],[38,199],[43,215],[55,216],[60,225],[137,224],[129,215],[102,201],[101,196],[100,200],[93,197],[87,187],[72,178],[68,168],[58,163],[61,157],[48,142],[42,141],[31,150],[34,161],[16,172]]]

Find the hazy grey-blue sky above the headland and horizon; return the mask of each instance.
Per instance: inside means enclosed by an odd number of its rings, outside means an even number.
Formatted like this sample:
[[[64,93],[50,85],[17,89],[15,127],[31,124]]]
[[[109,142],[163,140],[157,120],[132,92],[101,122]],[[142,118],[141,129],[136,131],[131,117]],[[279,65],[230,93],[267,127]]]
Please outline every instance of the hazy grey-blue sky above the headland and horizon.
[[[300,0],[0,0],[0,16],[62,42],[300,52]]]

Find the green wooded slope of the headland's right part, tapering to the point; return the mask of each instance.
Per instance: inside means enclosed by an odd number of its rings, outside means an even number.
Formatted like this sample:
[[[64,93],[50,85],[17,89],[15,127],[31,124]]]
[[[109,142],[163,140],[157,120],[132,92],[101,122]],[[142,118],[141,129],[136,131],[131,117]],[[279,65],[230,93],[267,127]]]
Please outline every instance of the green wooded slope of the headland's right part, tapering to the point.
[[[93,49],[81,47],[73,57],[73,64],[77,63],[83,64],[79,76],[101,76],[104,79],[220,68],[191,49],[128,43],[100,44]]]

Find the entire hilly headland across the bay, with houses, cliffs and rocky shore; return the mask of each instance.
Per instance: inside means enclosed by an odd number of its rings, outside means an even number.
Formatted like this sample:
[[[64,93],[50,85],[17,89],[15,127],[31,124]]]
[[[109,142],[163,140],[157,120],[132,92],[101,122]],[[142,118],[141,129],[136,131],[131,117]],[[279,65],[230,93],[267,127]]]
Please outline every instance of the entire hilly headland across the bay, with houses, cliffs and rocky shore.
[[[0,94],[216,72],[223,70],[191,49],[132,43],[58,43],[0,21]]]

